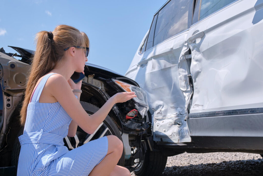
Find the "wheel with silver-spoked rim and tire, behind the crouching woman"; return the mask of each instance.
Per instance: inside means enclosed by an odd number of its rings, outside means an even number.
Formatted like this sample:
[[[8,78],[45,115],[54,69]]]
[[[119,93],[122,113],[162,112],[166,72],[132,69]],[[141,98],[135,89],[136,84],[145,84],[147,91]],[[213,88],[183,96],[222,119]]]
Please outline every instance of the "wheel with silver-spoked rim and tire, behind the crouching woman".
[[[99,110],[97,106],[94,106],[93,104],[87,103],[87,102],[80,102],[84,110],[89,114],[92,115],[95,112]],[[19,153],[20,153],[20,143],[18,140],[18,136],[23,134],[24,127],[22,127],[17,135],[17,138],[14,142],[13,150],[12,150],[12,158],[11,158],[11,163],[12,166],[18,165],[18,158],[19,158]],[[92,141],[94,139],[98,139],[103,136],[108,136],[108,135],[115,135],[117,136],[121,141],[122,141],[122,136],[120,135],[119,129],[110,118],[110,116],[107,115],[105,120],[100,124],[100,126],[95,130],[93,134],[87,134],[85,131],[83,131],[79,126],[76,132],[76,135],[74,137],[68,137],[66,136],[63,140],[65,143],[65,146],[68,147],[69,150],[72,150],[76,147],[79,147],[89,141]],[[122,141],[123,142],[123,141]],[[119,162],[117,165],[124,166],[124,149],[122,153],[122,157],[120,158]]]

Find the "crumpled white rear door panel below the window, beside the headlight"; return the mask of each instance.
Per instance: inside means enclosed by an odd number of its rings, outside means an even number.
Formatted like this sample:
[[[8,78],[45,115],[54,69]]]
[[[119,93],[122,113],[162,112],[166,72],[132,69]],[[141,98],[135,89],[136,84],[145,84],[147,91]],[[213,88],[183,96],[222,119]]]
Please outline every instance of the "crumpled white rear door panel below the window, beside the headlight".
[[[134,60],[144,58],[147,63],[131,65],[131,70],[125,74],[126,77],[134,79],[147,93],[155,141],[190,141],[187,123],[184,121],[187,116],[185,98],[178,80],[178,60],[187,33],[188,31],[185,31],[168,39],[142,55],[138,49]]]

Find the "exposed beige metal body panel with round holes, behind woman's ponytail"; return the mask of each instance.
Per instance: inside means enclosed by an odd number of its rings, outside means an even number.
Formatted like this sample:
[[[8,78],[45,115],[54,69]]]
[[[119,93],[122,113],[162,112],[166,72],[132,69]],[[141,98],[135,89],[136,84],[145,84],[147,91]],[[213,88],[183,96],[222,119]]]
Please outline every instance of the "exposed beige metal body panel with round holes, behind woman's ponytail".
[[[0,81],[1,88],[1,118],[0,118],[0,142],[4,140],[7,124],[11,119],[12,112],[21,101],[26,88],[26,78],[29,65],[18,61],[0,52]],[[6,107],[6,108],[4,108]]]

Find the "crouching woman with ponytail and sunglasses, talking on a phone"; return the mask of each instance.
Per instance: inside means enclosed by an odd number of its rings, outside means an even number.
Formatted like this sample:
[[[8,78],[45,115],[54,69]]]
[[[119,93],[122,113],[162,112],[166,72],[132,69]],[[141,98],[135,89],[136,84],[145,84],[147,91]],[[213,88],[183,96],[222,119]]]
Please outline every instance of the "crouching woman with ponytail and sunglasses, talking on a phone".
[[[53,32],[38,32],[36,40],[20,111],[25,127],[19,136],[17,175],[130,175],[116,165],[123,151],[118,137],[104,136],[70,151],[63,138],[75,136],[77,126],[93,134],[115,103],[136,97],[135,93],[117,93],[89,116],[79,103],[82,81],[75,84],[70,79],[74,71],[84,73],[87,35],[59,25]]]

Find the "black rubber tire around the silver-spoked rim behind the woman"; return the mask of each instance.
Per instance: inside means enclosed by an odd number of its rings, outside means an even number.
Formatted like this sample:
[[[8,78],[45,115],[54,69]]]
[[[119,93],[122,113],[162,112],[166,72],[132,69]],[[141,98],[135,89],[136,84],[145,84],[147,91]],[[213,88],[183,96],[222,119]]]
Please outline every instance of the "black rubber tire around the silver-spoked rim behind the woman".
[[[99,107],[94,106],[93,104],[90,104],[87,102],[81,101],[80,104],[82,105],[83,109],[90,115],[94,114],[95,112],[97,112],[99,110]],[[115,122],[112,120],[112,118],[110,118],[110,116],[107,115],[107,117],[105,118],[103,123],[107,125],[107,127],[109,128],[112,135],[117,136],[122,141],[122,136],[120,135],[119,129],[116,126]],[[80,128],[78,127],[78,129],[80,129]],[[21,127],[21,129],[19,130],[18,135],[16,137],[16,140],[14,142],[14,146],[13,146],[13,150],[12,150],[11,164],[12,164],[12,166],[16,166],[16,168],[18,165],[18,158],[19,158],[19,153],[20,153],[20,148],[21,148],[21,145],[20,145],[19,140],[18,140],[18,136],[22,135],[23,131],[24,131],[24,127]],[[124,166],[124,162],[125,162],[124,157],[125,156],[124,156],[124,149],[123,149],[122,156],[121,156],[119,162],[117,163],[117,165]]]

